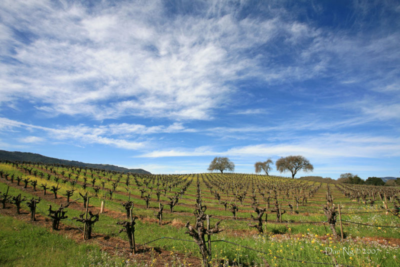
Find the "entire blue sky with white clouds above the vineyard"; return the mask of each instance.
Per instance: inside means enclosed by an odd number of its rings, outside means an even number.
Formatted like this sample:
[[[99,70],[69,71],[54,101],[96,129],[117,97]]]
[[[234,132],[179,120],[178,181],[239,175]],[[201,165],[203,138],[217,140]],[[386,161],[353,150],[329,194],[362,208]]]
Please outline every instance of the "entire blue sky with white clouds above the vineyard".
[[[2,0],[0,149],[398,177],[400,2]]]

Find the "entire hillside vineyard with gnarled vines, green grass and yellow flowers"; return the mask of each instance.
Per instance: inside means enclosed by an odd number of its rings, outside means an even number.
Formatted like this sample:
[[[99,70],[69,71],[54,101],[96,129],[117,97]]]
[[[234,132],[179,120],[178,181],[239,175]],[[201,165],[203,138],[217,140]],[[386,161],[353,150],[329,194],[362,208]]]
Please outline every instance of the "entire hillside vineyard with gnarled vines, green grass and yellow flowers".
[[[9,161],[0,175],[1,266],[400,265],[396,187]],[[29,245],[60,236],[46,256]]]

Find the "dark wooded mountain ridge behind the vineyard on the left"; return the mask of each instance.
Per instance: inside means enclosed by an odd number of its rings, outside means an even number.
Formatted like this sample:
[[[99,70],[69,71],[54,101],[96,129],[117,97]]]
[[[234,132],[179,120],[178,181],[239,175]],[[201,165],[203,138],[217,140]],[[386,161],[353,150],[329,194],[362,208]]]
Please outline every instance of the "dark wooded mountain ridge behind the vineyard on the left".
[[[141,168],[124,168],[110,164],[93,164],[93,163],[84,163],[75,160],[66,160],[59,159],[55,157],[43,156],[41,154],[30,153],[30,152],[19,152],[19,151],[5,151],[0,150],[0,159],[1,160],[10,160],[10,161],[30,161],[30,162],[42,162],[46,164],[63,164],[69,166],[77,166],[77,167],[87,167],[87,168],[98,168],[98,169],[108,169],[122,172],[133,172],[133,173],[144,173],[151,174],[151,172],[141,169]]]

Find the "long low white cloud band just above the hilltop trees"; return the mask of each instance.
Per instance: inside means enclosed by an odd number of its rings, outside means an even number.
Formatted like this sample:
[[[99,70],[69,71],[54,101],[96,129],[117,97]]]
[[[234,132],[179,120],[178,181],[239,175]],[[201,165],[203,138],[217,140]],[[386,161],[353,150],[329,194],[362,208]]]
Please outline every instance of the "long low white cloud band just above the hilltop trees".
[[[259,143],[236,146],[224,151],[214,147],[195,149],[174,148],[154,150],[137,157],[174,157],[174,156],[239,156],[270,157],[302,154],[306,157],[325,161],[328,158],[346,157],[388,157],[400,156],[400,138],[373,136],[366,134],[321,134],[315,137],[298,137],[283,143]]]

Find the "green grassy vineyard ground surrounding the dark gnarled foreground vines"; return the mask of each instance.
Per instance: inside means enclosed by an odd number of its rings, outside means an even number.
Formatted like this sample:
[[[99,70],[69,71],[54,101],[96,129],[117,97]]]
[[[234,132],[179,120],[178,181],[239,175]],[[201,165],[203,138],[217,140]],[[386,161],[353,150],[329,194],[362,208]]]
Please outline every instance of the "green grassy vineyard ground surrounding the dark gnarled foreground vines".
[[[48,218],[48,205],[56,207],[65,203],[66,198],[63,194],[66,190],[76,189],[71,199],[80,197],[79,192],[81,194],[87,192],[90,196],[90,210],[93,212],[99,211],[104,194],[106,195],[106,212],[101,213],[99,220],[94,224],[95,236],[91,242],[85,240],[76,243],[74,241],[76,236],[65,237],[65,234],[49,231],[44,223],[32,225],[31,222],[27,222],[27,214],[11,218],[10,214],[4,214],[4,210],[0,210],[0,214],[3,214],[0,224],[1,247],[4,247],[0,254],[1,265],[36,266],[41,262],[48,262],[43,263],[48,265],[56,262],[70,266],[200,265],[198,246],[194,242],[182,241],[193,240],[185,233],[185,223],[189,222],[190,225],[195,223],[193,211],[197,181],[202,204],[207,207],[205,213],[211,215],[211,227],[216,221],[223,219],[219,224],[219,228],[223,231],[211,237],[213,242],[209,257],[210,265],[321,266],[333,265],[334,262],[348,266],[400,265],[396,256],[400,245],[400,230],[397,227],[400,225],[400,219],[391,213],[386,214],[386,209],[382,208],[384,198],[380,199],[384,193],[384,197],[388,198],[385,202],[387,208],[393,209],[395,197],[398,197],[398,190],[395,188],[354,186],[344,188],[347,194],[345,195],[342,187],[332,184],[254,174],[131,174],[128,177],[118,172],[95,169],[84,170],[40,164],[16,166],[10,163],[0,163],[0,170],[2,171],[1,194],[9,186],[9,195],[21,193],[22,197],[26,198],[42,197],[37,204],[36,212],[43,220]],[[8,174],[7,177],[5,173]],[[11,175],[13,175],[12,182]],[[16,177],[21,179],[19,185]],[[24,188],[22,179],[26,178],[29,178],[29,182]],[[30,183],[32,180],[37,181],[36,191]],[[73,181],[76,183],[73,184]],[[41,184],[46,184],[47,187],[58,184],[60,189],[57,192],[57,199],[49,189],[46,195],[43,195]],[[96,187],[98,187],[97,196],[94,190]],[[156,201],[157,189],[160,191],[159,202],[165,205],[162,226],[155,217],[159,206]],[[140,197],[140,190],[145,190],[144,195],[151,196],[148,209],[145,200]],[[333,198],[333,203],[336,206],[340,204],[342,220],[350,221],[343,222],[344,240],[334,237],[326,222],[327,217],[322,206],[327,204],[327,191],[330,192],[328,195]],[[364,198],[353,197],[359,193]],[[168,197],[175,194],[181,198],[174,207],[174,212],[170,212]],[[219,194],[219,201],[216,194]],[[243,196],[242,203],[240,195]],[[299,201],[298,208],[296,197]],[[117,221],[127,219],[121,202],[126,202],[128,199],[133,201],[133,215],[138,217],[135,224],[135,241],[139,251],[136,255],[132,255],[129,249],[124,248],[127,246],[127,235],[119,232],[121,227],[116,224]],[[372,200],[373,203],[370,203]],[[251,206],[252,203],[254,206],[254,201],[259,207],[266,207],[269,202],[266,225],[265,215],[263,216],[263,233],[249,226],[249,223],[251,225],[256,223],[250,217],[251,214],[256,215]],[[276,221],[276,212],[272,211],[275,201],[281,204],[282,210],[285,210],[281,223]],[[227,204],[225,210],[222,202],[236,203],[237,219],[233,219],[233,214],[229,211],[231,205]],[[293,205],[292,211],[288,207],[289,203]],[[13,207],[10,203],[6,203],[6,206]],[[26,205],[22,204],[21,207],[27,213]],[[84,212],[81,197],[66,210],[68,219],[62,221],[62,232],[69,227],[75,229],[75,235],[80,235],[76,229],[81,228],[82,223],[73,220],[72,217]],[[336,220],[335,228],[340,236],[339,216]],[[155,240],[160,237],[174,239]],[[109,245],[114,247],[107,247],[109,240],[113,240]],[[155,241],[142,245],[152,240]],[[116,245],[118,243],[120,243],[119,248]],[[48,255],[42,252],[49,250],[52,252]],[[89,252],[86,253],[87,251]],[[68,254],[73,256],[68,257]],[[52,261],[51,257],[56,261]]]

